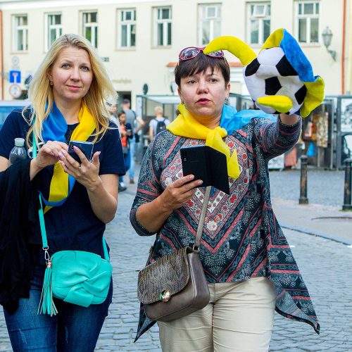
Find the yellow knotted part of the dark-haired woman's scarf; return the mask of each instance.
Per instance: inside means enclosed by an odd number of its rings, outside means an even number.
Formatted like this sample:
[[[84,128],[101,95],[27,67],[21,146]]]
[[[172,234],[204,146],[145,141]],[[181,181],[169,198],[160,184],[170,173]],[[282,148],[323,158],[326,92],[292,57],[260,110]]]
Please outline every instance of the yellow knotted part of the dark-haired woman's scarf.
[[[187,110],[184,104],[177,106],[180,111],[180,115],[173,120],[168,127],[166,127],[173,134],[177,136],[194,138],[194,139],[205,139],[206,146],[224,153],[227,159],[227,172],[230,177],[237,179],[241,173],[239,170],[239,163],[237,160],[237,151],[234,149],[232,155],[230,148],[225,144],[222,138],[227,136],[225,128],[220,126],[215,127],[213,130],[199,123]]]

